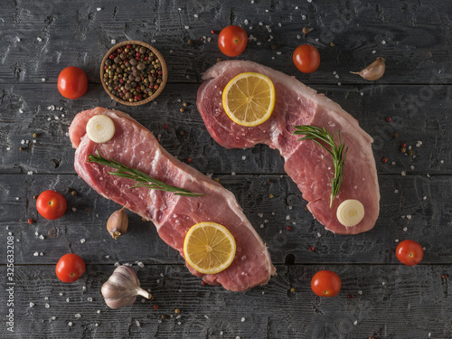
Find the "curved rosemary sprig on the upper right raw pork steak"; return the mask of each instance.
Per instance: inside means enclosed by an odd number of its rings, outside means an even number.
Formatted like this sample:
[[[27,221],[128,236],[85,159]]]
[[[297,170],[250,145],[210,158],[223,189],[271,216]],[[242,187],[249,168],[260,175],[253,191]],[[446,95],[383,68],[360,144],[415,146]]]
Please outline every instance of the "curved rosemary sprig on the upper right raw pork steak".
[[[330,196],[330,208],[333,205],[334,198],[339,193],[339,189],[341,188],[343,177],[344,177],[344,162],[345,155],[347,155],[348,147],[345,148],[344,152],[344,144],[341,142],[341,131],[337,131],[337,137],[339,139],[339,144],[336,145],[334,143],[334,133],[330,135],[326,132],[325,127],[316,127],[316,126],[296,126],[295,135],[305,135],[305,137],[301,137],[298,141],[310,139],[317,143],[318,145],[324,147],[330,155],[333,155],[333,164],[334,164],[334,177],[331,178],[331,196]],[[323,143],[322,143],[323,142]],[[327,146],[330,146],[331,149],[328,149]]]

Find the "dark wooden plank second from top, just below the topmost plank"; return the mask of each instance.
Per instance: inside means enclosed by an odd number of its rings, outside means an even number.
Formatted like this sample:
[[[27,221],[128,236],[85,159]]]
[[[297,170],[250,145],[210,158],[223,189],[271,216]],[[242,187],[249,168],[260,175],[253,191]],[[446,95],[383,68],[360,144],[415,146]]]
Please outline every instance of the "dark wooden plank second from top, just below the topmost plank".
[[[71,120],[80,110],[103,106],[129,113],[152,130],[172,155],[183,161],[190,158],[191,165],[202,173],[284,174],[283,159],[268,146],[227,150],[213,141],[196,109],[197,89],[197,85],[168,85],[154,103],[128,108],[94,85],[82,100],[63,99],[52,84],[39,90],[33,84],[0,86],[0,173],[73,174],[74,150],[66,135]],[[375,139],[372,148],[378,173],[452,174],[448,161],[452,122],[447,115],[452,110],[452,87],[315,89],[342,105]],[[181,113],[184,102],[188,107]],[[391,122],[386,121],[388,117]],[[398,137],[393,137],[394,132]],[[406,153],[411,147],[412,155],[400,153],[402,143],[407,144]],[[24,151],[19,151],[20,147]],[[387,164],[381,162],[383,156]]]

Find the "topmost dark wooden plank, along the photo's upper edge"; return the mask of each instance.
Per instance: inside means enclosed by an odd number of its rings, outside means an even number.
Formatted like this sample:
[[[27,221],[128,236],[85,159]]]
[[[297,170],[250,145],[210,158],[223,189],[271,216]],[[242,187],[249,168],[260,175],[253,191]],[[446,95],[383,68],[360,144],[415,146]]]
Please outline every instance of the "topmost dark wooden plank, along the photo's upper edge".
[[[307,83],[366,83],[350,71],[361,70],[376,56],[388,63],[379,83],[428,84],[432,79],[451,83],[447,18],[451,6],[442,0],[428,2],[428,9],[414,2],[372,5],[359,0],[319,4],[196,0],[190,5],[146,0],[85,5],[9,2],[0,16],[0,82],[54,83],[62,68],[77,65],[87,71],[89,81],[99,83],[99,62],[112,42],[142,40],[163,53],[170,82],[199,83],[208,66],[218,58],[227,59],[212,29],[239,24],[250,35],[240,59],[287,71]],[[305,26],[313,31],[303,39]],[[310,75],[297,71],[291,58],[305,42],[315,44],[322,57],[320,69]],[[272,50],[272,45],[278,48]]]

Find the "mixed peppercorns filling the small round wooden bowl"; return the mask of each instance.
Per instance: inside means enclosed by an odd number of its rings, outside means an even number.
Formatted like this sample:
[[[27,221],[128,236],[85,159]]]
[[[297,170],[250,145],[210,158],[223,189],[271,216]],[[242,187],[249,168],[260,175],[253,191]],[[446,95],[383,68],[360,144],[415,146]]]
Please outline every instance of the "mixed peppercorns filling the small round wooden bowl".
[[[118,47],[103,68],[109,92],[124,101],[147,99],[163,82],[162,62],[150,49],[135,43]]]

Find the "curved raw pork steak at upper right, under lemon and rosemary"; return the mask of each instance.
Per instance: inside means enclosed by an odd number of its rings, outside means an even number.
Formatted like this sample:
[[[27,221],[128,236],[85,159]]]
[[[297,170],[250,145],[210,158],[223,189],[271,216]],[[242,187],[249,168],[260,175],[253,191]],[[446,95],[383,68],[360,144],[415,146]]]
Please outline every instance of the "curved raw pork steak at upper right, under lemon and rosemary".
[[[236,75],[253,71],[268,76],[276,91],[275,109],[266,122],[257,127],[234,123],[222,108],[221,93]],[[198,90],[197,106],[211,136],[227,148],[245,148],[266,144],[278,149],[286,160],[285,170],[307,200],[307,208],[327,230],[342,234],[369,231],[379,214],[380,190],[372,137],[358,122],[331,99],[317,94],[294,77],[252,61],[221,61],[207,70]],[[312,140],[297,141],[295,126],[325,127],[348,146],[344,164],[344,182],[330,208],[331,178],[334,176],[332,156]],[[337,206],[347,199],[363,202],[363,221],[345,227],[336,218]]]

